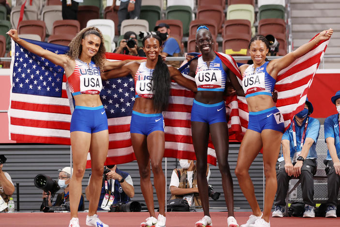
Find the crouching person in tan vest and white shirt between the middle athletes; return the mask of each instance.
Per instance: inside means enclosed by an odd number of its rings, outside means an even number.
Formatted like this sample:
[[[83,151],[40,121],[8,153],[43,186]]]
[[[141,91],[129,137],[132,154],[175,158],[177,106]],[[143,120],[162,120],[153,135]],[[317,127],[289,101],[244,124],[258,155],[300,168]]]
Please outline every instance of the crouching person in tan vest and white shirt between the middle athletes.
[[[196,165],[193,160],[180,159],[180,169],[174,169],[170,181],[170,199],[184,198],[189,206],[201,206],[201,199],[197,187]],[[207,181],[210,177],[207,168]]]

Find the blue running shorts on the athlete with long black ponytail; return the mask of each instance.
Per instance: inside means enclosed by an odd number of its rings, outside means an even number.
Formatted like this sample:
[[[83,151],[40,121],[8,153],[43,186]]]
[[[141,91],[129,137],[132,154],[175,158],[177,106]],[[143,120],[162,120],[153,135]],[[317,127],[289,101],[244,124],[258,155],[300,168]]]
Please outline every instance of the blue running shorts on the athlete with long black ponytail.
[[[164,131],[164,118],[162,114],[142,114],[132,111],[130,133],[148,136],[153,131]]]

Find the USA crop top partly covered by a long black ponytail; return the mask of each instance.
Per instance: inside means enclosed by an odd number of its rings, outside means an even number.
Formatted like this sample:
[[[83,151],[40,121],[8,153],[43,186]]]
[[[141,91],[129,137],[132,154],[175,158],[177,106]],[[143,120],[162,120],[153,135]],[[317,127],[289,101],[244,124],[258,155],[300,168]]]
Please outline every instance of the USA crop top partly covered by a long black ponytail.
[[[153,98],[153,73],[154,69],[147,68],[146,62],[142,62],[135,75],[135,97]]]

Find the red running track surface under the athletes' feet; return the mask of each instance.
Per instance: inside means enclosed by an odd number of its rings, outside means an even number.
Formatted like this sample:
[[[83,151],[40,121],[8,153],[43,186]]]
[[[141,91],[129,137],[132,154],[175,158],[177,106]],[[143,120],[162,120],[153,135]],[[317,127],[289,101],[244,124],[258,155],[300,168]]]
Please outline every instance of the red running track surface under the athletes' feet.
[[[139,227],[148,212],[100,212],[100,219],[110,227]],[[227,226],[226,212],[211,212],[214,227]],[[78,213],[80,227],[86,227],[87,213]],[[167,227],[194,227],[202,212],[167,212]],[[239,225],[246,223],[250,212],[235,212]],[[0,213],[0,227],[68,227],[70,213]],[[340,227],[338,218],[271,218],[271,227]]]

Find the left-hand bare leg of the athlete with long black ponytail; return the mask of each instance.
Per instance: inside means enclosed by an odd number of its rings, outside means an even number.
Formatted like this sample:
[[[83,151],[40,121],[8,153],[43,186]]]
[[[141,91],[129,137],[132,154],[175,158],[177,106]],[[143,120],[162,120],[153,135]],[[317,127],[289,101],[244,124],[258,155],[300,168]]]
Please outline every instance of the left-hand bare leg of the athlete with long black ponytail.
[[[146,145],[146,136],[139,133],[131,133],[131,142],[139,168],[140,189],[150,216],[157,218],[154,206],[154,190],[150,179],[150,156]]]

